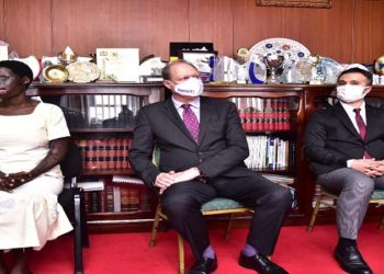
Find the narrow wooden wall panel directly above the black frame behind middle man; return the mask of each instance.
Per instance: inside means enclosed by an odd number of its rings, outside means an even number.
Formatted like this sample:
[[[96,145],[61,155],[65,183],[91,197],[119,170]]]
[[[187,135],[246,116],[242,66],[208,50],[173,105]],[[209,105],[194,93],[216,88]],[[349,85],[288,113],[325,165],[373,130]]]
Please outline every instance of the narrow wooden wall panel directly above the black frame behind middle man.
[[[213,42],[221,55],[233,56],[233,0],[191,0],[190,41]]]

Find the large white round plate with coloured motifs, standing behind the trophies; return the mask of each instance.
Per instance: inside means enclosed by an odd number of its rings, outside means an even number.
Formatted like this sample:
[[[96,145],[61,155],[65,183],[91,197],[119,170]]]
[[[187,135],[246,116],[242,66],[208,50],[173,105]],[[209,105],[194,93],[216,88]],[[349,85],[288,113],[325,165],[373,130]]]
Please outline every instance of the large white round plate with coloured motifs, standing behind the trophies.
[[[269,38],[257,43],[249,50],[251,56],[258,56],[260,58],[270,55],[278,54],[285,57],[285,62],[306,58],[310,55],[308,48],[301,43],[289,38]]]

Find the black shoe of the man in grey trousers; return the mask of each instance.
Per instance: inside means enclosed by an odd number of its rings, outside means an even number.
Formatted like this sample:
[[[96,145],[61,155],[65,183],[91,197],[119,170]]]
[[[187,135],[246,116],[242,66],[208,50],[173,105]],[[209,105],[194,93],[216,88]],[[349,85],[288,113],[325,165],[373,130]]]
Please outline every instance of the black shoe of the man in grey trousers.
[[[359,252],[358,247],[342,248],[339,244],[335,249],[335,259],[341,269],[350,274],[372,274],[372,270]]]

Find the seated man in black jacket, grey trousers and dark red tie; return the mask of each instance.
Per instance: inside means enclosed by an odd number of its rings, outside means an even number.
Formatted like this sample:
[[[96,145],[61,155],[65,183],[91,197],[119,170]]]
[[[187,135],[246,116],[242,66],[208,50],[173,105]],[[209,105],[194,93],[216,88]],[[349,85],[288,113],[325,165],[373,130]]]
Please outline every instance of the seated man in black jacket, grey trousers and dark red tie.
[[[304,138],[317,183],[339,194],[335,259],[349,273],[372,273],[357,238],[374,189],[384,189],[384,110],[365,104],[371,84],[364,66],[347,67],[338,77],[339,103],[314,112]]]

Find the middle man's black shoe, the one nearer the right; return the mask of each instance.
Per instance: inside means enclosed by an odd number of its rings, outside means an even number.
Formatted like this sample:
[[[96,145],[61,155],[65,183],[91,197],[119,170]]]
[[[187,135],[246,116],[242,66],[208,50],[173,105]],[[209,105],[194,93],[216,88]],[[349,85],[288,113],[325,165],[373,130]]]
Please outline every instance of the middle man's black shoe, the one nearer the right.
[[[239,265],[257,271],[260,274],[287,274],[283,267],[272,263],[267,255],[246,256],[240,252]]]

